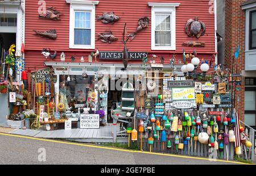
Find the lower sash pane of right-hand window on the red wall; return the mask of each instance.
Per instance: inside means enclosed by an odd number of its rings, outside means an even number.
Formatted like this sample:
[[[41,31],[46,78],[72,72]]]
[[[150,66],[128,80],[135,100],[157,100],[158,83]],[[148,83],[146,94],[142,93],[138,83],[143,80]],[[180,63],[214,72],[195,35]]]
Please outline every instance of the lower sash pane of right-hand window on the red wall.
[[[170,31],[155,31],[155,45],[156,46],[171,46],[171,32]]]

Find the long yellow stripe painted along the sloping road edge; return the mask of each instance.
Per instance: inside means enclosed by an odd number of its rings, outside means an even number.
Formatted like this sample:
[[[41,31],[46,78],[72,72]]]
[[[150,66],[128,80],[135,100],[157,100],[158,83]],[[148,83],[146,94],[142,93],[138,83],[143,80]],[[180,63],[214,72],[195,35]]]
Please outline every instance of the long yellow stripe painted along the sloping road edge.
[[[42,138],[36,138],[36,137],[11,135],[11,134],[7,134],[7,133],[0,133],[0,135],[3,135],[3,136],[13,136],[13,137],[32,139],[32,140],[39,140],[39,141],[47,141],[47,142],[51,142],[51,143],[87,146],[87,147],[90,147],[90,148],[117,150],[117,151],[130,152],[130,153],[154,154],[154,155],[159,155],[159,156],[169,156],[169,157],[177,157],[177,158],[191,158],[191,159],[195,159],[195,160],[207,160],[207,161],[210,161],[207,158],[200,158],[200,157],[179,156],[179,155],[174,155],[174,154],[155,153],[155,152],[143,152],[143,151],[129,150],[129,149],[118,149],[118,148],[110,148],[110,147],[107,147],[107,146],[96,146],[96,145],[89,145],[89,144],[79,144],[79,143],[71,143],[71,142],[64,142],[64,141],[57,141],[57,140],[42,139]],[[243,163],[243,162],[225,161],[225,160],[214,160],[214,162],[228,162],[228,163],[233,163],[233,164],[255,165],[255,164],[247,164],[247,163]]]

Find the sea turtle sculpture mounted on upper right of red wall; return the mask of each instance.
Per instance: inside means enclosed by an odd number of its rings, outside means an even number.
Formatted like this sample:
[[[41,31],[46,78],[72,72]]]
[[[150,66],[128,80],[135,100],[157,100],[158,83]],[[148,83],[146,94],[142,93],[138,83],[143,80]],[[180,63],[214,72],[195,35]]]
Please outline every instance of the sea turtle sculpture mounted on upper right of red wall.
[[[189,19],[185,27],[185,32],[187,33],[187,35],[189,37],[196,36],[197,39],[199,39],[200,36],[203,36],[205,34],[205,30],[205,24],[203,22],[199,22],[197,16],[195,19]]]

